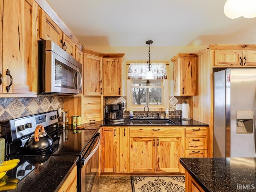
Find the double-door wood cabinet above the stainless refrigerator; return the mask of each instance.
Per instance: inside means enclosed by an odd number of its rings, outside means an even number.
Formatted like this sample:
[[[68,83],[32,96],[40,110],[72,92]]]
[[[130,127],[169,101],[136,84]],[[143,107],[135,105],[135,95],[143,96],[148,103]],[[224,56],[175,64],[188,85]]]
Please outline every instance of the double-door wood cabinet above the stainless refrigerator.
[[[256,50],[215,50],[214,66],[256,66]]]

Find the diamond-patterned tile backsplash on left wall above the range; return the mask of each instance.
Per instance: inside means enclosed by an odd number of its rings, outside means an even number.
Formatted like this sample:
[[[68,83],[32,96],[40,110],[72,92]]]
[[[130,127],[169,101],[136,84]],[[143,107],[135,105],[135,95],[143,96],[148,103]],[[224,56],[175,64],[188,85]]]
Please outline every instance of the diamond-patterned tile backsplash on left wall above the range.
[[[63,109],[64,97],[0,98],[0,121]]]

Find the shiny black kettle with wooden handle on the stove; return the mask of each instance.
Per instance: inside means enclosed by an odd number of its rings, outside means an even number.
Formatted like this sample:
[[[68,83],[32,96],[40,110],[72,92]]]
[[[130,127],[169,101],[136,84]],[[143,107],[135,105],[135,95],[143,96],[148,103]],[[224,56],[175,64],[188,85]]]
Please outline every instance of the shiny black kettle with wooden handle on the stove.
[[[36,126],[34,134],[30,136],[24,145],[24,149],[28,152],[43,152],[52,147],[53,140],[45,132],[43,125]]]

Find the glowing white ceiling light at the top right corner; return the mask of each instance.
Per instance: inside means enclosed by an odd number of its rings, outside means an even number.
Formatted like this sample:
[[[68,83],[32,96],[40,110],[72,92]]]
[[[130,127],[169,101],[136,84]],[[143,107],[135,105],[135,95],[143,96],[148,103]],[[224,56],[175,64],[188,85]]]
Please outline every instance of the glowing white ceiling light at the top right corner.
[[[230,19],[256,17],[256,0],[227,0],[224,13]]]

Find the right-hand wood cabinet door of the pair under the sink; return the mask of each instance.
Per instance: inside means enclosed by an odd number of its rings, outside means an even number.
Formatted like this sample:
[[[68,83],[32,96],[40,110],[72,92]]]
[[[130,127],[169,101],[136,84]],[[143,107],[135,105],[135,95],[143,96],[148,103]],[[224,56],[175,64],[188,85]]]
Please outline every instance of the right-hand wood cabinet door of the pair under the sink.
[[[180,172],[181,138],[156,138],[156,171]]]

